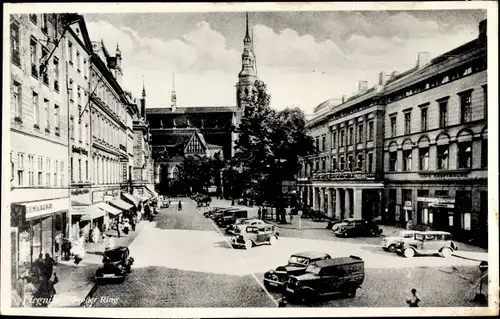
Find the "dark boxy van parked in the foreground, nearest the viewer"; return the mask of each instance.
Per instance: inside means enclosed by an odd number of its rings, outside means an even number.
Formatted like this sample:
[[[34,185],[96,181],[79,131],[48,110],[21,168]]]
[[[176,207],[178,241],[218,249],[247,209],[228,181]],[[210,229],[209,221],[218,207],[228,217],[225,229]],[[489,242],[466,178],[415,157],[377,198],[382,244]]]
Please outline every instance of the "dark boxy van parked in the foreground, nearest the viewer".
[[[357,256],[325,259],[290,276],[283,294],[290,301],[312,302],[334,294],[353,298],[365,279],[365,263]]]

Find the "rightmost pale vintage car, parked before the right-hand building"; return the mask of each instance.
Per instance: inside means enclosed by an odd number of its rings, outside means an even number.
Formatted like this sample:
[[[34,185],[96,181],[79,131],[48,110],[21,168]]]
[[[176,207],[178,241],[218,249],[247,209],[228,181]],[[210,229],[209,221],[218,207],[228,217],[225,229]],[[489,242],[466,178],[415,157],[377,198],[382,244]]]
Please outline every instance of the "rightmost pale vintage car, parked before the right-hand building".
[[[396,247],[399,255],[412,258],[415,255],[440,255],[448,258],[458,246],[451,234],[444,231],[416,231],[411,238],[403,238]]]

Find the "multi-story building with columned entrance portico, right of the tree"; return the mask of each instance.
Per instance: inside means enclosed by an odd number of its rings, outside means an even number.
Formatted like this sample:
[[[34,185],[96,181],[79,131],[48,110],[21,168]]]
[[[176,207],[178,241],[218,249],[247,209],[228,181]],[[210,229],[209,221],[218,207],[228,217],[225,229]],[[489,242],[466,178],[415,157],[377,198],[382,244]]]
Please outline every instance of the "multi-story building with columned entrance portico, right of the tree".
[[[306,159],[299,176],[302,201],[330,217],[380,216],[383,190],[384,75],[379,85],[349,99],[328,100],[307,127],[317,153]]]

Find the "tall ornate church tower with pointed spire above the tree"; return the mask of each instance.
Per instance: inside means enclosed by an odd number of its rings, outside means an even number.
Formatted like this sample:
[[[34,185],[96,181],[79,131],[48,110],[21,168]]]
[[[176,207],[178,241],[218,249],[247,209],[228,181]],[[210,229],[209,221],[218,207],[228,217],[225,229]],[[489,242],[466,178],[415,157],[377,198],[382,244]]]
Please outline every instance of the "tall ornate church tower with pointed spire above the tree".
[[[255,80],[257,80],[257,68],[253,52],[253,39],[248,30],[247,12],[246,33],[243,38],[243,53],[241,54],[241,71],[238,74],[238,83],[236,83],[236,105],[239,110],[243,110],[248,104],[248,100],[253,98]]]

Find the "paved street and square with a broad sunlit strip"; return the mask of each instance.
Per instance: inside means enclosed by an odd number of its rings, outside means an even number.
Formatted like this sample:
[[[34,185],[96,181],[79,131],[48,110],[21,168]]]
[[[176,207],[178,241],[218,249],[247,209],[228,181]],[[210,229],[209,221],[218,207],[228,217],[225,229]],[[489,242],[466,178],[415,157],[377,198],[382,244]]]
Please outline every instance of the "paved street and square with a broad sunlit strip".
[[[234,250],[191,200],[183,202],[183,211],[164,209],[145,226],[130,245],[136,260],[133,272],[121,285],[99,287],[95,307],[111,306],[101,297],[117,298],[113,306],[122,307],[275,307],[280,295],[264,290],[264,272],[305,250],[357,255],[366,267],[365,282],[354,299],[310,306],[405,307],[412,288],[421,295],[422,306],[474,306],[477,262],[455,257],[409,260],[384,252],[379,238],[307,238],[312,230],[304,232],[306,238],[301,231],[287,233],[272,247]]]

